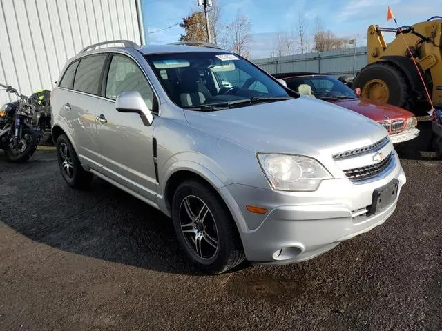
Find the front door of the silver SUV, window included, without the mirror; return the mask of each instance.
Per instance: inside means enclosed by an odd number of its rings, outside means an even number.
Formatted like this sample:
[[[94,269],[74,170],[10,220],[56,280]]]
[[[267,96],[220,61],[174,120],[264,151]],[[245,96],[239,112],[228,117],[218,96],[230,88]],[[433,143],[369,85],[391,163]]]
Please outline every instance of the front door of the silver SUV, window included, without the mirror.
[[[139,114],[115,109],[117,96],[129,91],[140,92],[148,108],[152,109],[152,88],[137,63],[122,54],[113,55],[104,81],[106,99],[99,101],[95,111],[102,171],[107,177],[156,203],[155,120],[151,126],[145,126]]]

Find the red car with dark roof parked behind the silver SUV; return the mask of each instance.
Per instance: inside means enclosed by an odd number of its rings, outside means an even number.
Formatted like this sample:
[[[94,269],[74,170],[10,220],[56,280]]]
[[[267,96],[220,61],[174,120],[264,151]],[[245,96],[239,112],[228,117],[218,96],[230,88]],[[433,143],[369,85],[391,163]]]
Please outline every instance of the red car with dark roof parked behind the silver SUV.
[[[419,135],[414,114],[387,103],[363,99],[334,77],[304,72],[273,76],[284,79],[288,88],[300,94],[329,101],[373,119],[388,131],[392,143],[403,143]]]

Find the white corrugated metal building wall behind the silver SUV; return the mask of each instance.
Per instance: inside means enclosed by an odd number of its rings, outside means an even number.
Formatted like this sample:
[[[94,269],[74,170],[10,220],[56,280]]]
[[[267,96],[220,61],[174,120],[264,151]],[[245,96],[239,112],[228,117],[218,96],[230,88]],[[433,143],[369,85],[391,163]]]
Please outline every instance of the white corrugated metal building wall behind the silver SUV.
[[[26,95],[51,90],[81,48],[116,39],[144,43],[138,10],[137,0],[0,0],[0,83]],[[0,92],[0,104],[10,98]]]

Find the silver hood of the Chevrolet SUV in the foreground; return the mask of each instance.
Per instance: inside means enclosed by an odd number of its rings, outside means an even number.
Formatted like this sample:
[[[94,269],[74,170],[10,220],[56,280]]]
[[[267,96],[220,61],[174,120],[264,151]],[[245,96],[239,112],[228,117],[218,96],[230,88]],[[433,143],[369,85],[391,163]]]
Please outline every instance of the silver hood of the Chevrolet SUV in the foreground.
[[[184,114],[194,128],[253,152],[329,157],[369,146],[387,135],[367,117],[308,97],[213,112],[184,110]]]

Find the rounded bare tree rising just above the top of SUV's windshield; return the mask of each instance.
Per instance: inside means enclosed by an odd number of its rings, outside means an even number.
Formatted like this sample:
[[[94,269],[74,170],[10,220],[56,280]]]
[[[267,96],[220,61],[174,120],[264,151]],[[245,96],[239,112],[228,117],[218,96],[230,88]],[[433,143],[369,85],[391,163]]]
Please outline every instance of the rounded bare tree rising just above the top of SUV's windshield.
[[[249,17],[238,10],[233,22],[227,26],[227,31],[230,37],[231,50],[242,57],[249,57],[252,40]]]

